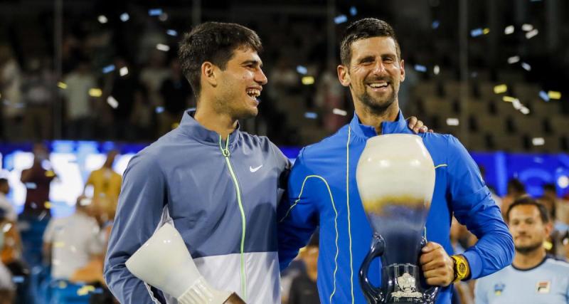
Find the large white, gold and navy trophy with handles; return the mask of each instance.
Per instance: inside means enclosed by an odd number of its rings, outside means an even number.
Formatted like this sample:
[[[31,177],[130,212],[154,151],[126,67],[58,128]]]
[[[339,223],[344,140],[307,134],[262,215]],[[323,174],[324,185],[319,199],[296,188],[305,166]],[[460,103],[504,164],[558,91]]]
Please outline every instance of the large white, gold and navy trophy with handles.
[[[435,166],[416,135],[380,135],[366,143],[356,169],[363,209],[373,229],[359,273],[368,303],[435,303],[438,288],[424,283],[419,258],[435,188]],[[368,280],[381,257],[381,286]]]

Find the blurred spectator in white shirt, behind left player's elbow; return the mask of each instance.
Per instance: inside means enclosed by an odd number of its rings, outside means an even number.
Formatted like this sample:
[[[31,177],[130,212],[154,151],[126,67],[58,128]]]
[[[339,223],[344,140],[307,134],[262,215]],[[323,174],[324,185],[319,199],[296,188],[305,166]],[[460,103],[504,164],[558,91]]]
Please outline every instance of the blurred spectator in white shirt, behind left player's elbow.
[[[51,265],[53,280],[69,280],[103,252],[99,225],[90,216],[91,199],[79,196],[75,212],[70,216],[51,219],[43,234],[44,261]]]

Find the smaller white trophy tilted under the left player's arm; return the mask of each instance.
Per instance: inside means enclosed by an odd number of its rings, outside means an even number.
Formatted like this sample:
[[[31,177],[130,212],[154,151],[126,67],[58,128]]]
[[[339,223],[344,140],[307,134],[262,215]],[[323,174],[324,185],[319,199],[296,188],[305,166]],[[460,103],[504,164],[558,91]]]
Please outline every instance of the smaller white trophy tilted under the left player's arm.
[[[206,282],[170,224],[158,229],[126,264],[134,276],[174,296],[180,304],[245,304],[236,293],[216,290]]]

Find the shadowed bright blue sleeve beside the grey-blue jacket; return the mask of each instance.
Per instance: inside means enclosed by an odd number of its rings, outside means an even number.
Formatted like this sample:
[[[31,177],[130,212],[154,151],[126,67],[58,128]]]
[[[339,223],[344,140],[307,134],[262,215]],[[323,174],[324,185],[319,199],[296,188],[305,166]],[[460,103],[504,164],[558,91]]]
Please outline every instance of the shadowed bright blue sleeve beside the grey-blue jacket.
[[[316,201],[309,191],[306,191],[309,187],[314,187],[315,179],[311,179],[307,174],[302,159],[303,152],[304,150],[300,152],[292,166],[287,192],[277,207],[281,271],[289,266],[299,249],[306,246],[318,225]]]

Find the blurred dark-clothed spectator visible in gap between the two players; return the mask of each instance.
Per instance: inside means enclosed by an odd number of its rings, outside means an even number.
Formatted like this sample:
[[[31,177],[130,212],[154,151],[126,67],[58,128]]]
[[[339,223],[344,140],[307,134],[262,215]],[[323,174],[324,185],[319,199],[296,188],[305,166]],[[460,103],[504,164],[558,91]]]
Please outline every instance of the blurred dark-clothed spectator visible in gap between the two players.
[[[318,273],[318,233],[312,235],[307,246],[302,248],[299,256],[304,262],[305,270],[292,279],[288,304],[318,304],[318,288],[316,284]]]

